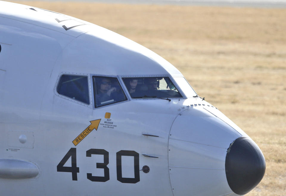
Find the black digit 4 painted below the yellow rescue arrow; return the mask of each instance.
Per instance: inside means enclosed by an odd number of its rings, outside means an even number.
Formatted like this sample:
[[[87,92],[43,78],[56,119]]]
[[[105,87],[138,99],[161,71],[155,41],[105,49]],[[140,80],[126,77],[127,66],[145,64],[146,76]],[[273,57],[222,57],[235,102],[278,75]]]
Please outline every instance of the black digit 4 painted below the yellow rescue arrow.
[[[71,157],[71,167],[65,167],[64,164]],[[60,163],[57,165],[58,172],[71,172],[72,180],[77,180],[77,173],[80,172],[80,168],[77,167],[77,149],[71,148],[69,152],[63,157]]]

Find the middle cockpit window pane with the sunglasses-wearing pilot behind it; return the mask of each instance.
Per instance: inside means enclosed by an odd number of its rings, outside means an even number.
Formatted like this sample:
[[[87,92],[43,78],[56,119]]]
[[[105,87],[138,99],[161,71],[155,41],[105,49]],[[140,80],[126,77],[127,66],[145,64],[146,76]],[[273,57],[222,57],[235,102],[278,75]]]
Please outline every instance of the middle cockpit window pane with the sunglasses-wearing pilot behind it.
[[[93,76],[95,107],[127,100],[117,78]]]

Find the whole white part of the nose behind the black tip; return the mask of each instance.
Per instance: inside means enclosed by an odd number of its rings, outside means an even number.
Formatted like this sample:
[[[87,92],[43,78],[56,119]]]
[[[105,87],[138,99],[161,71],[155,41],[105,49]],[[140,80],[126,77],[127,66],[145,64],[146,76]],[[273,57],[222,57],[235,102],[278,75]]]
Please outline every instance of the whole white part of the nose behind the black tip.
[[[225,158],[229,141],[241,134],[205,108],[212,106],[205,101],[190,104],[172,124],[168,160],[174,196],[232,192],[225,175]]]

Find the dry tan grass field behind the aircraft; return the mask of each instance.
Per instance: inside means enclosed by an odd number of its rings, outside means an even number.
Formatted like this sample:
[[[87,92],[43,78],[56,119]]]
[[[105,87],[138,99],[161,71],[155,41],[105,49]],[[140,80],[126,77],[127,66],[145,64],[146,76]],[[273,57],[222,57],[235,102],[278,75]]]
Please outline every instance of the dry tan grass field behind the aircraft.
[[[98,24],[170,61],[264,153],[265,176],[247,196],[286,195],[286,9],[19,3]]]

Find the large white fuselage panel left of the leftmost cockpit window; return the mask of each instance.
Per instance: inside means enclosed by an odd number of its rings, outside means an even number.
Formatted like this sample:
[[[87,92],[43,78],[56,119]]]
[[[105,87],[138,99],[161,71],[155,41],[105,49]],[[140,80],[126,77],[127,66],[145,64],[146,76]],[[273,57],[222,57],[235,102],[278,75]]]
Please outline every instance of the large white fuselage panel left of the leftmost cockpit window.
[[[62,48],[57,40],[41,33],[2,27],[0,42],[9,45],[1,44],[1,67],[5,70],[1,101],[5,104],[0,121],[38,124],[46,85]]]

